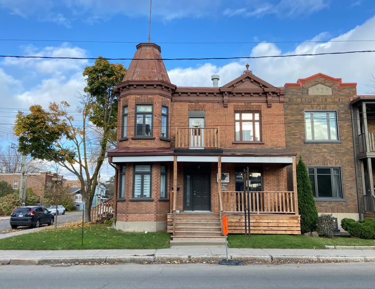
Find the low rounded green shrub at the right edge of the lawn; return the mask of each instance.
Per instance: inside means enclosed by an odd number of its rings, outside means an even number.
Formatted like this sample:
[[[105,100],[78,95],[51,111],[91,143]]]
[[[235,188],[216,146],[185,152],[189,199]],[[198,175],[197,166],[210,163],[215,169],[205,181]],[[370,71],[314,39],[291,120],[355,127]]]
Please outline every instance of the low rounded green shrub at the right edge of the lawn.
[[[368,218],[359,221],[354,221],[352,219],[346,219],[345,221],[344,220],[345,219],[341,221],[341,227],[343,227],[344,230],[348,231],[351,236],[361,239],[375,239],[374,218]]]

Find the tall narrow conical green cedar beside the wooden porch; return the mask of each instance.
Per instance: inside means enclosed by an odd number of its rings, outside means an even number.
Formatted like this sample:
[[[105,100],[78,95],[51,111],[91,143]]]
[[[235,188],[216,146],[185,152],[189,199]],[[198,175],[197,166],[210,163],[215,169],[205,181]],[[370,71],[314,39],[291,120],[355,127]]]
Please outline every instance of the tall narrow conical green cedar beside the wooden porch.
[[[301,156],[299,156],[299,162],[296,166],[296,174],[301,233],[312,232],[317,227],[318,211],[315,206],[311,180]]]

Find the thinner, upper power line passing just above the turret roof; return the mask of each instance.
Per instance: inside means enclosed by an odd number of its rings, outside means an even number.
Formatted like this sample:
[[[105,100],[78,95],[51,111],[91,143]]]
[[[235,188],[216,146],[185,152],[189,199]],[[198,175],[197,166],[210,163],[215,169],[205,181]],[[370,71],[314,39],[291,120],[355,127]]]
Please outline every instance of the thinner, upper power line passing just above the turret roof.
[[[56,40],[56,39],[0,39],[0,41],[72,42],[72,43],[123,43],[134,44],[142,41],[98,41],[98,40]],[[375,42],[375,40],[303,40],[303,41],[227,41],[227,42],[159,42],[160,44],[261,44],[261,43],[330,43],[330,42]]]

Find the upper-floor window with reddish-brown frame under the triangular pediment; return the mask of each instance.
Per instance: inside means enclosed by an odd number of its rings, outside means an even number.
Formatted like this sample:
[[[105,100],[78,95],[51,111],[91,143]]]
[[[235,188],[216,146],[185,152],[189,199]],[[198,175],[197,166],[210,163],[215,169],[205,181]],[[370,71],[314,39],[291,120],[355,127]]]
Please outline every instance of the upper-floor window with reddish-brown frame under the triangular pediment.
[[[235,113],[236,142],[261,142],[261,114]]]

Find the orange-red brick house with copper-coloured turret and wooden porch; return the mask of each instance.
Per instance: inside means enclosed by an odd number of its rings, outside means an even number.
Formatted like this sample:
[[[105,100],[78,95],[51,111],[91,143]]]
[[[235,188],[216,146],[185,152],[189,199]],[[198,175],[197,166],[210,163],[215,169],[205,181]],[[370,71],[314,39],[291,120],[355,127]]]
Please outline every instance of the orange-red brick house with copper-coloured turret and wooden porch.
[[[220,239],[222,215],[230,233],[244,232],[248,202],[252,233],[300,233],[284,87],[256,77],[248,65],[222,87],[215,75],[214,87],[176,87],[160,46],[136,48],[134,58],[144,60],[132,60],[114,87],[118,141],[108,156],[116,168],[116,229],[168,230],[174,241]]]

